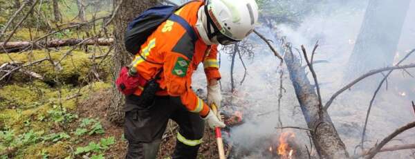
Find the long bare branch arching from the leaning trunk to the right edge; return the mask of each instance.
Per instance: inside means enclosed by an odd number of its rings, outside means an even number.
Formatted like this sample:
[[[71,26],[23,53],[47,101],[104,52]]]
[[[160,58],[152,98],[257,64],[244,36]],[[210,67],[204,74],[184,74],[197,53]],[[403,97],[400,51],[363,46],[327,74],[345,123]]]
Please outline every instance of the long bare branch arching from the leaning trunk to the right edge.
[[[351,86],[357,84],[362,79],[365,79],[365,78],[367,78],[371,75],[375,75],[377,73],[382,73],[384,71],[400,70],[400,69],[403,69],[403,68],[415,68],[415,63],[414,64],[402,65],[402,66],[389,66],[389,67],[386,67],[386,68],[380,68],[380,69],[369,71],[369,73],[366,73],[365,75],[362,75],[362,76],[358,77],[357,79],[353,80],[352,82],[350,82],[349,84],[347,84],[346,86],[341,88],[339,91],[334,93],[333,96],[330,97],[330,100],[326,102],[326,105],[324,105],[324,110],[329,109],[329,106],[331,105],[333,100],[335,100],[335,98],[338,97],[338,95],[340,95],[341,93],[343,93],[347,89],[351,88]]]

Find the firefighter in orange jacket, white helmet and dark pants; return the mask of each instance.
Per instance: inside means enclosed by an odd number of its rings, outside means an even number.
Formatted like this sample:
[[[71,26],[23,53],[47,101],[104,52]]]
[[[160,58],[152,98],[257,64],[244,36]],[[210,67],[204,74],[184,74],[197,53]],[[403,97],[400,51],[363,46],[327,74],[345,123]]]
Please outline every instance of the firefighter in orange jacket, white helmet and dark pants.
[[[160,85],[155,100],[149,104],[137,104],[142,87],[126,97],[126,158],[156,158],[169,119],[179,126],[172,158],[196,158],[205,121],[211,128],[225,127],[209,107],[221,106],[217,46],[247,37],[257,22],[257,10],[255,0],[192,1],[174,14],[192,26],[196,41],[183,26],[170,20],[147,38],[129,66],[129,73],[147,80],[157,79]],[[192,73],[200,63],[208,81],[208,103],[191,87]]]

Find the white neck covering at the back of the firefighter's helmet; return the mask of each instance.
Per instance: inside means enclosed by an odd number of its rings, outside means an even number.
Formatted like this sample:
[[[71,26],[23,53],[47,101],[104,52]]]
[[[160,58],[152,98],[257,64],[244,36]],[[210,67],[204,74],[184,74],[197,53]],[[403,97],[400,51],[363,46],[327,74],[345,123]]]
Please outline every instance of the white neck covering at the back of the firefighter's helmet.
[[[219,42],[215,41],[214,38],[209,38],[208,31],[212,30],[213,28],[211,28],[211,26],[208,24],[208,17],[205,15],[204,7],[199,8],[199,11],[197,12],[196,29],[205,44],[219,44]]]

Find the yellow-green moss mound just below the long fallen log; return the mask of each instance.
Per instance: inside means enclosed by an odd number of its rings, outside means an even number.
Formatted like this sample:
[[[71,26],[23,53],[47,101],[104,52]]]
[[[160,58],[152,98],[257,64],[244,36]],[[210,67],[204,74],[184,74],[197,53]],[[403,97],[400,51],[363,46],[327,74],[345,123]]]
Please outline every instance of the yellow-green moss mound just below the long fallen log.
[[[62,57],[68,52],[70,48],[62,48],[59,51],[51,51],[50,56],[52,57],[54,62],[58,62],[62,59]],[[107,51],[107,47],[103,47],[103,51]],[[62,60],[60,65],[55,68],[49,61],[44,61],[36,66],[31,66],[26,69],[29,71],[33,71],[35,73],[39,73],[43,75],[45,81],[49,84],[56,84],[59,81],[61,84],[86,84],[90,81],[90,79],[94,79],[91,72],[91,68],[93,66],[93,62],[91,62],[90,54],[84,53],[84,50],[73,50],[70,55]],[[44,59],[48,57],[48,53],[44,50],[33,50],[33,53],[27,54],[17,54],[12,53],[10,54],[13,60],[17,62],[35,62],[39,59]],[[109,76],[109,58],[106,59],[107,61],[102,62],[100,66],[96,66],[96,72],[100,75],[101,79],[107,79]],[[0,55],[0,64],[10,62],[10,58],[5,55]],[[101,59],[97,59],[96,63],[98,64]],[[60,69],[59,69],[60,68]],[[58,70],[57,70],[58,69]],[[12,81],[15,82],[28,82],[31,78],[27,75],[23,75],[22,73],[15,73],[12,77]]]

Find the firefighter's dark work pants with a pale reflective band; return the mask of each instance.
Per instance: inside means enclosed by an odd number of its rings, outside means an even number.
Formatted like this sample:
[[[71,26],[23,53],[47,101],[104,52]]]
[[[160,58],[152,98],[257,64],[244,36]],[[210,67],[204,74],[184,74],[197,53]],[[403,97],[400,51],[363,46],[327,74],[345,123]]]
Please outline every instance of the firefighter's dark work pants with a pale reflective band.
[[[178,126],[178,140],[172,158],[196,158],[205,128],[199,114],[185,109],[178,97],[156,96],[154,104],[137,105],[139,97],[126,97],[124,136],[129,142],[127,159],[156,158],[169,119]],[[132,110],[131,110],[132,109]]]

